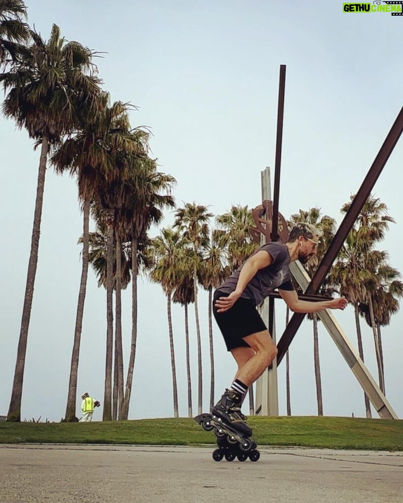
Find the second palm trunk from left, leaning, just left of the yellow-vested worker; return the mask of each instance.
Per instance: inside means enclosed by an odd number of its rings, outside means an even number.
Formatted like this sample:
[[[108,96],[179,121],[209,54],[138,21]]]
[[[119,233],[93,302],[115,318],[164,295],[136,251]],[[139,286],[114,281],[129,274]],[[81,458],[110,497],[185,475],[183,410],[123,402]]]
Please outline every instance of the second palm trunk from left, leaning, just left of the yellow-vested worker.
[[[74,330],[74,343],[72,362],[70,365],[69,394],[67,397],[65,420],[74,421],[76,417],[77,399],[77,375],[80,357],[81,331],[83,326],[84,301],[87,288],[88,277],[88,246],[89,246],[89,221],[90,221],[90,200],[84,201],[84,223],[83,223],[83,267],[81,270],[81,281],[79,299],[77,302],[76,328]]]

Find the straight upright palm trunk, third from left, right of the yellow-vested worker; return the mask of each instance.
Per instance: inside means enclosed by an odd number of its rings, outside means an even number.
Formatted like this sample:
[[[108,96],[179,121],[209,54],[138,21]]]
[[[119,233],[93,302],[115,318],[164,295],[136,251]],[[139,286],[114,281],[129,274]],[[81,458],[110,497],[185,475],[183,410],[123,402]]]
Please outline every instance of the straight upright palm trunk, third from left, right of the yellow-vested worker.
[[[109,212],[108,212],[109,213]],[[107,217],[106,251],[106,359],[103,421],[112,421],[112,350],[113,350],[113,216]]]

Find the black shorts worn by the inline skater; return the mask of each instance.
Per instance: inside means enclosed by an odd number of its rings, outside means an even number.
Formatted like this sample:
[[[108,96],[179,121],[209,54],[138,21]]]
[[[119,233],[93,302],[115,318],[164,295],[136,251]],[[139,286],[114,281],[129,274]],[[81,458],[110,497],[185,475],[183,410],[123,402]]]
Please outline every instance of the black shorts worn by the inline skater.
[[[217,312],[216,300],[220,297],[228,297],[229,293],[217,290],[213,298],[213,313],[217,324],[223,334],[227,350],[235,348],[249,348],[243,338],[252,333],[267,330],[266,325],[257,312],[253,300],[239,297],[231,309],[222,313]]]

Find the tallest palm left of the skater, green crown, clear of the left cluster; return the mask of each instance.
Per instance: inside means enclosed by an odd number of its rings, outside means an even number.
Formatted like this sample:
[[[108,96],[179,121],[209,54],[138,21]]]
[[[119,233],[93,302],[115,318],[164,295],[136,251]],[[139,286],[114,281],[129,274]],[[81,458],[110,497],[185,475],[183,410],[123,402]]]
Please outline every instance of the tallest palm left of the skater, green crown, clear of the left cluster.
[[[183,208],[179,208],[175,213],[174,228],[182,231],[183,236],[188,239],[193,248],[193,289],[194,289],[194,314],[196,318],[197,335],[197,362],[198,362],[198,400],[197,413],[201,414],[203,407],[203,375],[201,369],[201,338],[200,323],[198,318],[197,305],[197,273],[200,267],[200,258],[209,243],[209,219],[213,214],[207,211],[207,206],[196,203],[186,203]]]

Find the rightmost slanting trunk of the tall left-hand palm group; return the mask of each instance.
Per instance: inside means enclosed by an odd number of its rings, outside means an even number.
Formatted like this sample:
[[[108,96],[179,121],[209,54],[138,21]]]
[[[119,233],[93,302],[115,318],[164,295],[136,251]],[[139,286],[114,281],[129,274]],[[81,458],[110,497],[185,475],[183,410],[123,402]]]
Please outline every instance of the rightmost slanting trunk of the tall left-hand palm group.
[[[135,235],[133,229],[133,236]],[[121,411],[119,411],[119,419],[127,420],[129,414],[131,385],[133,382],[133,371],[135,369],[137,346],[137,239],[131,240],[131,343],[129,364],[127,367],[126,388],[122,402]]]

